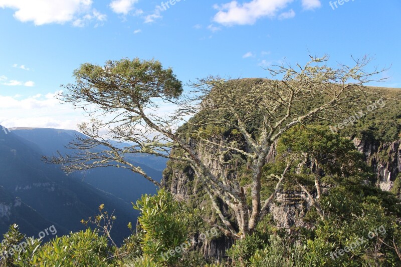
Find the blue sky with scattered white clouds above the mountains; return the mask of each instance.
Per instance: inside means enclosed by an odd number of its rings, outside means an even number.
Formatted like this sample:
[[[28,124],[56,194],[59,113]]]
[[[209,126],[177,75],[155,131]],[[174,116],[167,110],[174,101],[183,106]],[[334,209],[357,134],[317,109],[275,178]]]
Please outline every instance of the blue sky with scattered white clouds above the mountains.
[[[86,119],[54,98],[60,85],[82,63],[121,58],[157,59],[185,83],[269,77],[308,51],[348,65],[370,55],[391,65],[379,85],[399,88],[400,14],[399,0],[0,0],[0,124],[76,129]]]

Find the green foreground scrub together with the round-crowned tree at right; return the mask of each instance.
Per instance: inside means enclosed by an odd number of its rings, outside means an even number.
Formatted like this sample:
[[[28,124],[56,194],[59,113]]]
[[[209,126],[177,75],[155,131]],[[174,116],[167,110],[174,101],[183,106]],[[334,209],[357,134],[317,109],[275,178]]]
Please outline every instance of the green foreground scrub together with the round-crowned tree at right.
[[[330,141],[332,140],[332,141]],[[324,145],[326,144],[326,145]],[[331,144],[331,145],[327,145]],[[95,229],[70,233],[42,243],[26,238],[27,246],[3,257],[2,266],[399,266],[401,264],[401,208],[396,192],[384,192],[369,180],[369,167],[361,160],[349,139],[331,134],[320,126],[294,128],[280,139],[278,153],[292,156],[309,151],[319,160],[321,174],[297,169],[294,161],[285,186],[302,184],[314,188],[320,175],[326,190],[319,208],[310,210],[309,227],[278,229],[266,216],[257,230],[238,239],[226,251],[222,262],[204,258],[199,250],[203,242],[222,235],[199,238],[211,226],[203,220],[205,210],[189,208],[160,189],[156,195],[144,195],[133,205],[141,212],[136,232],[120,247],[108,240],[112,236],[112,218],[104,207],[90,221]],[[320,157],[325,155],[324,158]],[[287,154],[287,159],[290,156]],[[278,157],[280,158],[280,157]],[[302,157],[299,158],[302,160]],[[346,164],[348,163],[348,164]],[[280,160],[264,171],[280,171]],[[348,166],[348,168],[347,168]],[[330,172],[329,172],[330,171]],[[330,174],[328,174],[330,173]],[[324,178],[324,179],[323,179]],[[268,180],[265,181],[269,186]],[[335,186],[334,186],[335,185]],[[398,183],[394,190],[399,190]],[[313,215],[314,214],[314,215]],[[132,225],[128,225],[132,228]],[[210,229],[209,229],[210,230]],[[2,255],[18,247],[25,236],[13,225],[4,235]],[[185,244],[184,246],[182,244]],[[22,246],[20,246],[22,248]]]

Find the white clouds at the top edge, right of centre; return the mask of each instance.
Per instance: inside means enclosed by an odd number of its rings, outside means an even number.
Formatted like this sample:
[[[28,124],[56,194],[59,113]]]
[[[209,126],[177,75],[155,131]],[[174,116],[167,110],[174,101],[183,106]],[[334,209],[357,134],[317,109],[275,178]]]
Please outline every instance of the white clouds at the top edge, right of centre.
[[[252,0],[239,4],[237,1],[223,5],[215,5],[214,8],[219,12],[215,15],[214,21],[225,25],[253,25],[262,18],[289,19],[295,16],[295,12],[280,12],[287,8],[294,0]],[[305,10],[312,10],[321,6],[320,0],[302,0]]]

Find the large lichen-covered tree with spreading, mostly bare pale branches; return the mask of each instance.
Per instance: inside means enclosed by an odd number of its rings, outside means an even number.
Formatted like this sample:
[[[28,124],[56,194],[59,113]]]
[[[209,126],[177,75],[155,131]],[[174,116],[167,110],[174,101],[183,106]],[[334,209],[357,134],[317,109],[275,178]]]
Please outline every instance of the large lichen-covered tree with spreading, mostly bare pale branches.
[[[332,120],[367,103],[373,93],[364,84],[381,72],[366,72],[370,62],[366,57],[355,60],[353,67],[336,69],[328,66],[328,56],[310,58],[304,67],[269,69],[269,80],[208,77],[190,84],[193,90],[185,92],[172,70],[163,69],[157,61],[123,59],[104,67],[83,64],[74,72],[76,83],[66,86],[61,99],[83,107],[93,117],[90,123],[79,125],[89,138],[78,137],[70,145],[75,153],[47,160],[63,164],[67,173],[94,167],[127,168],[159,186],[130,162],[130,155],[144,153],[187,164],[222,222],[223,226],[216,226],[228,235],[244,237],[256,229],[277,193],[262,205],[262,169],[272,145],[298,124]],[[157,113],[164,104],[175,110]],[[105,121],[99,116],[105,116]],[[189,129],[189,135],[177,131],[179,126]],[[120,148],[113,140],[130,145]],[[202,147],[214,153],[202,158],[197,152]],[[252,172],[245,188],[250,193],[228,172],[234,158],[239,162],[236,167],[246,165]],[[278,177],[276,188],[290,166]]]

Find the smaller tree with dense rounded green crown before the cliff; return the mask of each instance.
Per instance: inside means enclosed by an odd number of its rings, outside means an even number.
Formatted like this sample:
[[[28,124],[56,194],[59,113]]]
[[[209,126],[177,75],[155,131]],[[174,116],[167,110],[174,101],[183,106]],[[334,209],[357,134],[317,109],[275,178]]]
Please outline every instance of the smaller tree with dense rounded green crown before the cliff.
[[[332,134],[327,127],[295,126],[280,138],[277,152],[280,159],[292,163],[293,172],[288,173],[287,180],[307,194],[321,219],[324,219],[319,203],[323,179],[328,187],[338,185],[346,177],[352,176],[361,183],[374,176],[352,141]],[[308,178],[314,183],[316,197],[307,189]]]

